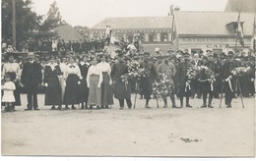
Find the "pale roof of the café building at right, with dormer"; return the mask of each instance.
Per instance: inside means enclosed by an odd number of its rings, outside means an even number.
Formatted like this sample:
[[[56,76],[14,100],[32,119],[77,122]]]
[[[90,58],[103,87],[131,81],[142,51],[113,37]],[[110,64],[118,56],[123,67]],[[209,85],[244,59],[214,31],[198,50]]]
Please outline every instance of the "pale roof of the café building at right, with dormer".
[[[237,22],[238,13],[182,12],[175,13],[178,34],[228,35],[233,34],[226,25]],[[253,13],[241,13],[244,35],[252,35]]]

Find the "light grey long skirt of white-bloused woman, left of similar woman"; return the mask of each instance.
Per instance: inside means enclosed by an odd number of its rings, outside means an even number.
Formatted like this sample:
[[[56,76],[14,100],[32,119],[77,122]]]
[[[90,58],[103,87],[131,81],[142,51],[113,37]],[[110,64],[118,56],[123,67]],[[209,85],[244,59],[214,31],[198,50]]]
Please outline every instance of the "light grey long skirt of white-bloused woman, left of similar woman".
[[[101,106],[101,88],[97,87],[99,77],[96,75],[92,75],[90,77],[90,89],[89,89],[89,97],[88,104]]]

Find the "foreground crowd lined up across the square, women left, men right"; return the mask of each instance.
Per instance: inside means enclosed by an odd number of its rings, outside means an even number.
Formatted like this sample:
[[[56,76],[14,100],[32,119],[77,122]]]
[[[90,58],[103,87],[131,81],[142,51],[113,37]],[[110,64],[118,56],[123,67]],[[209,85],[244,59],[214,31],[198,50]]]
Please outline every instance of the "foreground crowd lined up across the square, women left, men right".
[[[131,109],[135,103],[131,100],[131,93],[136,92],[140,99],[145,99],[145,107],[150,108],[150,100],[159,98],[154,85],[161,83],[162,76],[166,76],[170,82],[167,88],[171,88],[162,97],[163,108],[167,107],[168,97],[172,108],[191,108],[190,99],[195,97],[202,98],[201,108],[214,108],[212,100],[223,97],[224,92],[225,105],[229,108],[232,98],[238,95],[254,96],[255,59],[251,53],[238,56],[238,52],[232,51],[221,55],[211,50],[205,54],[171,49],[167,53],[161,53],[160,49],[155,51],[156,57],[149,52],[133,56],[116,50],[115,58],[110,58],[105,52],[84,53],[81,57],[69,52],[63,57],[50,55],[46,60],[38,60],[30,52],[20,62],[15,54],[10,53],[2,65],[4,111],[15,111],[15,106],[21,105],[21,92],[28,94],[25,110],[39,110],[39,86],[45,88],[44,105],[51,106],[52,110],[110,108],[113,98],[118,99],[121,110],[124,100]],[[129,68],[134,62],[138,64],[139,80],[130,75]],[[239,67],[249,70],[239,77],[233,73]],[[196,70],[191,69],[201,70],[192,75]],[[211,80],[206,77],[208,69],[215,76]]]

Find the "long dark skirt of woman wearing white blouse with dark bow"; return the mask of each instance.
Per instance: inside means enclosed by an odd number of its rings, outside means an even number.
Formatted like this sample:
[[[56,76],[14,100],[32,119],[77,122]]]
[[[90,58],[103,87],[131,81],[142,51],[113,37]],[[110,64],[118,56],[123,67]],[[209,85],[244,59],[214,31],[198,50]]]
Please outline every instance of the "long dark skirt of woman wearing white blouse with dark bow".
[[[78,104],[79,103],[79,85],[78,76],[70,74],[66,80],[66,89],[64,94],[64,104]]]

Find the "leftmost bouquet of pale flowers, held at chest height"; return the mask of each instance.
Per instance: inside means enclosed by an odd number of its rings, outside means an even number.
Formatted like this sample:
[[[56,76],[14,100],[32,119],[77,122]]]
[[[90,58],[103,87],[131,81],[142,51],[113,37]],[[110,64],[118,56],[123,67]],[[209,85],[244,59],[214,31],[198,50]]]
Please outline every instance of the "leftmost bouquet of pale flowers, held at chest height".
[[[128,76],[132,79],[140,80],[142,77],[142,70],[140,69],[140,63],[132,61],[128,64]]]

